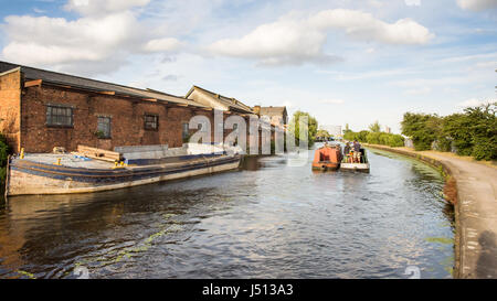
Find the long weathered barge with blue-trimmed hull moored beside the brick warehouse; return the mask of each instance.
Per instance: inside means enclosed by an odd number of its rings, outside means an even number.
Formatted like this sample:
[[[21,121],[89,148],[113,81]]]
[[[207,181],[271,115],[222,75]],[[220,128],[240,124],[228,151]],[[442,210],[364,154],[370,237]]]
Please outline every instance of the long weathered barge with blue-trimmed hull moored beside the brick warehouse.
[[[71,153],[24,154],[9,159],[6,194],[14,196],[109,191],[235,170],[240,161],[239,153],[225,151],[139,159],[129,161],[133,162],[130,164]]]

